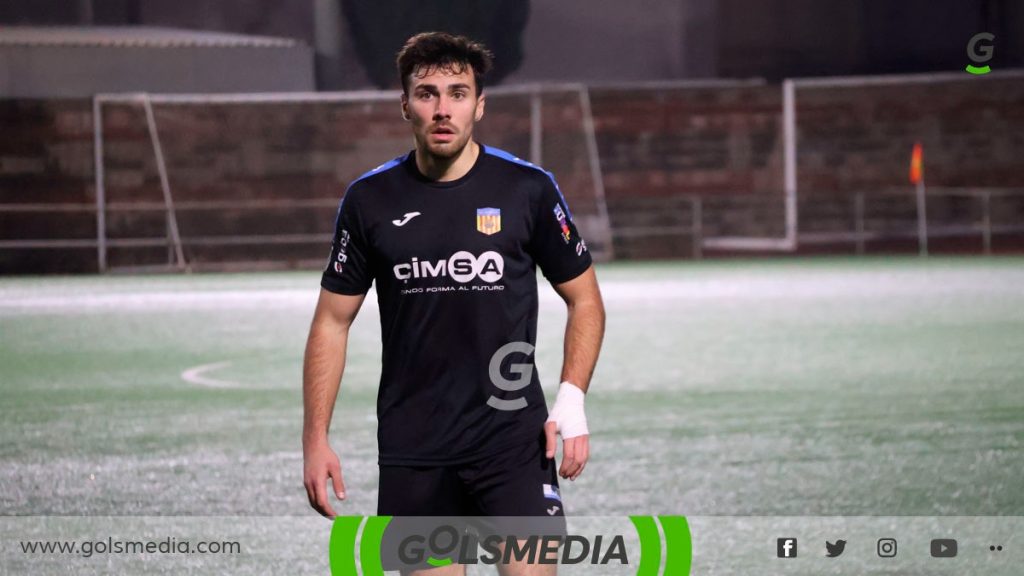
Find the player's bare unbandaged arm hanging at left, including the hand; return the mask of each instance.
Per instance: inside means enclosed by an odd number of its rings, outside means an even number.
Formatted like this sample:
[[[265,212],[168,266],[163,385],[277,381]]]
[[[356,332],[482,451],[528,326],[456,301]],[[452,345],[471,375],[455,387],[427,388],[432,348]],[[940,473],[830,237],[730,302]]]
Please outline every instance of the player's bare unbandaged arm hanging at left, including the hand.
[[[328,442],[328,429],[345,370],[348,330],[365,297],[366,294],[348,296],[321,289],[306,340],[302,365],[303,483],[309,505],[327,518],[336,516],[328,497],[329,478],[338,499],[345,499],[341,461]]]

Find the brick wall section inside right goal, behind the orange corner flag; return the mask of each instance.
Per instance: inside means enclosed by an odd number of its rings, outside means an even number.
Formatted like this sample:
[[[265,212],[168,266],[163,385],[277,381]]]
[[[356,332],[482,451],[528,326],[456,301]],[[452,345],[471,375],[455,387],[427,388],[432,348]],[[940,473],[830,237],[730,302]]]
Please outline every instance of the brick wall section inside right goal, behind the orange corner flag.
[[[975,81],[977,80],[977,81]],[[1024,80],[798,88],[798,187],[802,232],[850,231],[864,192],[868,230],[913,222],[908,181],[914,141],[929,189],[1024,189]],[[1024,223],[1020,197],[991,205],[995,223]],[[980,219],[980,201],[929,198],[937,225]]]

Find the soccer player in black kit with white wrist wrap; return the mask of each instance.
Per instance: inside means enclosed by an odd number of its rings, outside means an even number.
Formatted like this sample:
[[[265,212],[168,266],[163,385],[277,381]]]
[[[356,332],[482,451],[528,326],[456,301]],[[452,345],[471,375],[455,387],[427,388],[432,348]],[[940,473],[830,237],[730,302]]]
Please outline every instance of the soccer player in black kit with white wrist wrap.
[[[412,37],[397,65],[416,148],[353,181],[338,209],[303,367],[304,484],[328,518],[329,482],[345,498],[328,427],[349,327],[373,283],[383,340],[378,515],[563,517],[557,477],[575,480],[590,456],[584,399],[604,306],[553,176],[473,139],[490,57],[463,37]],[[550,413],[534,366],[538,266],[568,310]]]

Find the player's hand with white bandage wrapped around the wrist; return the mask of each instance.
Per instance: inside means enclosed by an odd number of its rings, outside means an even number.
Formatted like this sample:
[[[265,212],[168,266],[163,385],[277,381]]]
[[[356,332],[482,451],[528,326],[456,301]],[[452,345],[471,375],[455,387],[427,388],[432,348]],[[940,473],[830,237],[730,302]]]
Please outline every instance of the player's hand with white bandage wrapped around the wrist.
[[[556,436],[562,436],[562,465],[558,468],[558,475],[563,479],[580,478],[590,458],[590,434],[583,410],[584,397],[582,389],[569,382],[562,382],[548,421],[544,424],[546,455],[549,459],[555,457],[558,446]]]

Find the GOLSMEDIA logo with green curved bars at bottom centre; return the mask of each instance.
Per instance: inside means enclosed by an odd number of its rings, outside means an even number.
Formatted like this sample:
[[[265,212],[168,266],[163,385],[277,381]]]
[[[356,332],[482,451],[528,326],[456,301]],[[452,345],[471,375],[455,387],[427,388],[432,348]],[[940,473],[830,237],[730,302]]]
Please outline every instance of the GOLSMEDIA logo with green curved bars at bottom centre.
[[[546,532],[543,527],[551,525],[545,524],[532,524],[526,532],[516,529],[515,536],[500,531],[477,534],[458,528],[495,526],[494,521],[500,525],[507,520],[511,519],[436,519],[427,529],[425,519],[338,517],[331,531],[331,574],[355,576],[361,570],[367,576],[383,576],[384,570],[510,563],[592,565],[637,576],[688,576],[690,572],[692,544],[685,517],[629,517],[636,530],[635,538],[623,533],[569,534],[564,525],[557,535]],[[542,520],[551,521],[537,519],[537,522]],[[605,519],[600,520],[606,523]]]

